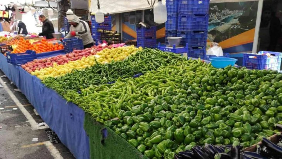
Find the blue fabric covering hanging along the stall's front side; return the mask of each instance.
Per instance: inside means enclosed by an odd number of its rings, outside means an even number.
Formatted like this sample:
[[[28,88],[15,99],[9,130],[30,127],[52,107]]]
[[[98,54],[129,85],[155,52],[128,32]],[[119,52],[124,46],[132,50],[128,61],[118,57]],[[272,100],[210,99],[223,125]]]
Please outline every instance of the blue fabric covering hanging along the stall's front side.
[[[37,77],[20,66],[8,64],[2,54],[0,69],[27,97],[70,152],[78,159],[89,158],[89,138],[83,127],[85,112],[77,105],[67,103],[54,90],[45,87]]]

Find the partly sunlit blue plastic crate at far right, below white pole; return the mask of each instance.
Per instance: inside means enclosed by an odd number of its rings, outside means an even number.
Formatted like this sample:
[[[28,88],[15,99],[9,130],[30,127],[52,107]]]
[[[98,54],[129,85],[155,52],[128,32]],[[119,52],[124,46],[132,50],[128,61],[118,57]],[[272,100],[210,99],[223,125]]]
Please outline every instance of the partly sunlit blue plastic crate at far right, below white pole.
[[[270,53],[271,57],[262,55]],[[248,69],[272,69],[280,70],[282,53],[260,51],[257,54],[244,53],[243,54],[243,66]]]

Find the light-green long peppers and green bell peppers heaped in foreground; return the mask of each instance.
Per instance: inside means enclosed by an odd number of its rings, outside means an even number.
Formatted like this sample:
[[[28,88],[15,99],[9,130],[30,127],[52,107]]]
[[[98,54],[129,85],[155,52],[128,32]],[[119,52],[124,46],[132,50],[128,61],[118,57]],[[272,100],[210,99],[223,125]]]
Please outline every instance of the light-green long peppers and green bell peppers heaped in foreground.
[[[64,97],[149,158],[171,158],[167,149],[234,142],[248,147],[279,132],[274,124],[282,121],[281,87],[277,71],[215,69],[187,60]]]

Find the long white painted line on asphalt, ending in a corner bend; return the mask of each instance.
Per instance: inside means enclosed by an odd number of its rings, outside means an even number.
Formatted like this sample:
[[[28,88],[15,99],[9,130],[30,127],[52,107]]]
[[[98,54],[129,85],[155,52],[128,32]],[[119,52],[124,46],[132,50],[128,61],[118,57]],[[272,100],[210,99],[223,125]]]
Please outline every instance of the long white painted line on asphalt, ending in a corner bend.
[[[12,98],[12,100],[16,103],[16,105],[18,106],[18,108],[21,110],[21,112],[23,113],[23,115],[25,115],[25,117],[27,118],[27,120],[30,123],[31,126],[31,130],[39,130],[39,129],[45,129],[45,128],[49,128],[48,126],[43,126],[43,127],[39,127],[38,123],[36,123],[36,121],[33,119],[33,117],[29,114],[29,112],[25,109],[25,107],[23,106],[23,104],[21,104],[21,102],[19,102],[19,100],[17,99],[17,97],[14,95],[14,93],[10,90],[10,88],[8,88],[8,86],[4,83],[4,81],[0,78],[0,84],[4,87],[5,91],[8,93],[8,95]]]

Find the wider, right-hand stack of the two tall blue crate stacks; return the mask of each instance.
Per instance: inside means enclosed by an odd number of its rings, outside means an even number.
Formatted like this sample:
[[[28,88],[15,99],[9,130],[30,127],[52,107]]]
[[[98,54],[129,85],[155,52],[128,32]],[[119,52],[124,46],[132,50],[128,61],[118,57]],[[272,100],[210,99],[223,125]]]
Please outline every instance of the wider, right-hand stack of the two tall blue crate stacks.
[[[177,36],[188,43],[188,57],[205,58],[210,0],[179,0]]]

